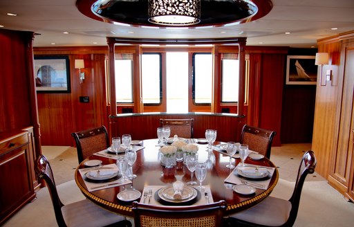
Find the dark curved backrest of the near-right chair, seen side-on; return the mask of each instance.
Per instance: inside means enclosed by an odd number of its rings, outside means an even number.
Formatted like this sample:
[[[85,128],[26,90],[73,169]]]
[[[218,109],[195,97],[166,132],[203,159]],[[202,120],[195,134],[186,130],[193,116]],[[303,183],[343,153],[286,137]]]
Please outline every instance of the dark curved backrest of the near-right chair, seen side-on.
[[[302,157],[299,172],[297,172],[294,192],[292,192],[292,196],[289,199],[291,203],[290,215],[288,221],[286,221],[286,224],[283,224],[283,226],[292,226],[295,223],[297,212],[299,211],[302,186],[304,185],[307,174],[313,174],[315,172],[316,163],[317,160],[313,151],[306,152]]]

